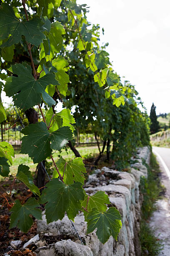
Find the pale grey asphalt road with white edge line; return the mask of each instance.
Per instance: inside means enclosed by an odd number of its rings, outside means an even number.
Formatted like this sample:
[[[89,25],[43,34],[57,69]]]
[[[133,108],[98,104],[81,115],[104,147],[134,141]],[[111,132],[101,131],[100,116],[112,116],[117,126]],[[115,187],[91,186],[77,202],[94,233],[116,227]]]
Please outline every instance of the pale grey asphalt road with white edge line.
[[[153,147],[153,153],[160,164],[161,183],[166,187],[166,193],[156,202],[157,210],[150,219],[150,226],[164,244],[159,256],[170,256],[170,148]]]

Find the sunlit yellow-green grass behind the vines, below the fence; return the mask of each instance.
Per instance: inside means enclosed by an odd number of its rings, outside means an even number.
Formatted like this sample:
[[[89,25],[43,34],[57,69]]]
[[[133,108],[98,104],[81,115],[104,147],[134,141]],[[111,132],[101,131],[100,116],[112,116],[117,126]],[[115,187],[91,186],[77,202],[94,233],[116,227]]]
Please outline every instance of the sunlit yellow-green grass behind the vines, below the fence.
[[[97,145],[92,145],[92,146],[79,146],[76,147],[77,150],[79,151],[80,155],[82,156],[82,159],[85,158],[90,158],[95,156],[96,154],[99,154]],[[20,164],[25,164],[30,167],[31,172],[35,172],[37,164],[33,164],[33,161],[28,155],[25,154],[20,154],[20,149],[15,150],[15,158],[13,158],[13,166],[10,167],[10,174],[16,175],[18,172],[18,165]],[[70,148],[67,148],[67,151],[65,149],[62,149],[61,153],[56,151],[52,155],[55,162],[62,156],[66,161],[69,161],[71,159],[75,158],[75,154],[71,151]],[[47,161],[51,161],[51,159],[47,159]],[[3,177],[0,176],[0,179],[2,180]]]

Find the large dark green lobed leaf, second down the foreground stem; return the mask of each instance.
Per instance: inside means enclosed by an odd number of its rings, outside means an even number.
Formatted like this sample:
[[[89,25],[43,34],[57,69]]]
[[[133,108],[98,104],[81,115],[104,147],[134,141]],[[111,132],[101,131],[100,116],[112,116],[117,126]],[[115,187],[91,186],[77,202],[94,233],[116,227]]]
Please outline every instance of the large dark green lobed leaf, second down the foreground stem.
[[[27,110],[40,104],[41,95],[50,107],[55,104],[55,101],[45,92],[48,84],[57,84],[54,74],[49,73],[35,80],[31,67],[25,63],[12,65],[9,70],[18,77],[7,77],[4,91],[7,96],[13,96],[14,104],[18,108]]]

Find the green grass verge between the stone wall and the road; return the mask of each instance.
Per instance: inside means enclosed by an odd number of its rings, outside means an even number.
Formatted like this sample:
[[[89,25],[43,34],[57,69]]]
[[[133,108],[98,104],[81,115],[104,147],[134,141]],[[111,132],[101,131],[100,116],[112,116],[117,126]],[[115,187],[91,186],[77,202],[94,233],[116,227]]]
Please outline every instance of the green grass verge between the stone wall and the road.
[[[150,166],[147,164],[146,166],[148,169],[148,179],[142,177],[140,182],[140,190],[143,195],[142,221],[140,222],[141,255],[156,256],[163,248],[162,241],[154,236],[154,230],[150,228],[147,222],[156,210],[155,202],[160,199],[160,195],[163,193],[164,188],[160,184],[159,164],[153,153],[150,156]]]

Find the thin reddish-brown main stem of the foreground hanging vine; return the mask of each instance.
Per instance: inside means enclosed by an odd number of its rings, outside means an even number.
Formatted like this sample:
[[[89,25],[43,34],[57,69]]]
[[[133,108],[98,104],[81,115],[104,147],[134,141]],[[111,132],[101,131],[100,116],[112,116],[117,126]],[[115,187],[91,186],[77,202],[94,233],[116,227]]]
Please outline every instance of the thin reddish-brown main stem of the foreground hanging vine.
[[[26,0],[22,0],[24,12],[25,12],[25,16],[26,16],[27,21],[29,21],[28,13],[27,13],[27,10],[26,10],[26,8],[25,8],[25,2],[26,2]],[[33,73],[34,73],[34,78],[35,78],[35,80],[37,80],[37,74],[36,74],[36,71],[35,71],[35,65],[34,65],[34,61],[33,61],[33,59],[32,59],[32,54],[31,54],[31,49],[32,49],[32,47],[31,47],[31,44],[28,44],[28,42],[27,42],[27,46],[28,46],[28,52],[29,52],[30,58],[31,58],[31,63],[32,63],[32,69],[33,69]],[[40,109],[40,112],[41,112],[41,115],[42,115],[42,118],[43,118],[44,123],[47,125],[47,123],[46,123],[46,121],[45,121],[44,114],[42,113],[42,109],[41,109],[40,105],[38,105],[38,108]],[[49,130],[48,126],[47,126],[47,129]],[[53,162],[53,164],[54,164],[54,166],[55,166],[55,169],[57,170],[57,173],[58,173],[58,175],[59,175],[59,177],[60,177],[60,180],[63,182],[63,178],[62,178],[62,176],[61,176],[61,174],[60,174],[60,172],[59,172],[59,170],[58,170],[58,168],[57,168],[57,165],[55,164],[55,161],[54,161],[52,155],[50,155],[50,157],[51,157],[52,162]],[[64,183],[64,182],[63,182],[63,183]]]

